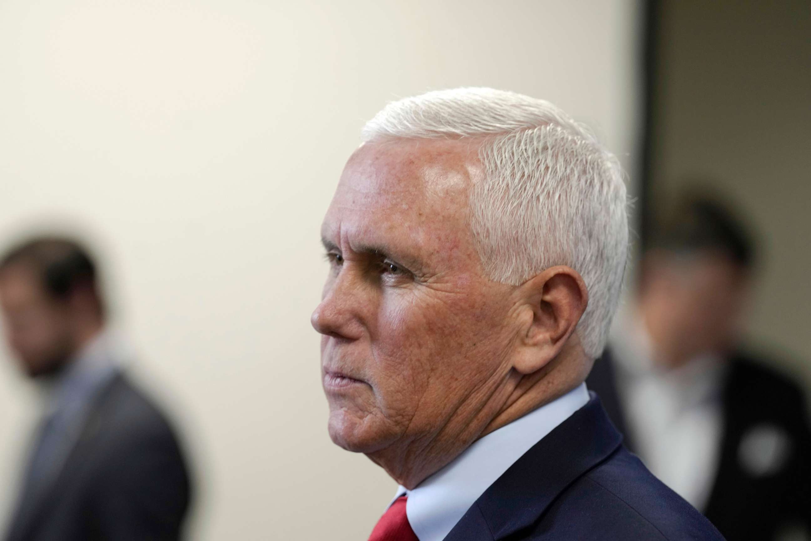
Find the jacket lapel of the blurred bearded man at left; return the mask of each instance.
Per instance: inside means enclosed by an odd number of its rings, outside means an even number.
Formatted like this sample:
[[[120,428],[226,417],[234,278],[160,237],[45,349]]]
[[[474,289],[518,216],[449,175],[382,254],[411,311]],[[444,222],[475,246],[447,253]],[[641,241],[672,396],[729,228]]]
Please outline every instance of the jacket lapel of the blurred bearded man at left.
[[[37,521],[41,514],[46,509],[53,507],[61,488],[66,483],[70,483],[71,479],[79,473],[80,466],[86,462],[84,457],[92,449],[92,440],[97,435],[98,429],[105,414],[105,405],[109,401],[109,397],[114,394],[114,390],[122,382],[122,375],[117,374],[113,376],[103,388],[101,388],[92,401],[87,417],[79,431],[79,436],[76,438],[75,443],[68,452],[67,457],[62,462],[62,467],[58,473],[54,475],[48,486],[43,487],[41,491],[28,501],[21,502],[21,506],[15,517],[13,526],[11,527],[11,534],[9,540],[27,539],[28,535],[36,527]]]

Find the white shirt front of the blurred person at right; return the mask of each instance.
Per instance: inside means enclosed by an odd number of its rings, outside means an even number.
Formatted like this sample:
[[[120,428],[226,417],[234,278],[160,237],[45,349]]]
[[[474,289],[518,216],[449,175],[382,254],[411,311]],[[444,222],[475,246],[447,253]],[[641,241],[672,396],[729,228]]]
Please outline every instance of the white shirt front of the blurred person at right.
[[[663,483],[704,509],[720,459],[722,359],[707,354],[670,370],[655,366],[638,315],[619,320],[613,334],[616,383],[635,450]]]

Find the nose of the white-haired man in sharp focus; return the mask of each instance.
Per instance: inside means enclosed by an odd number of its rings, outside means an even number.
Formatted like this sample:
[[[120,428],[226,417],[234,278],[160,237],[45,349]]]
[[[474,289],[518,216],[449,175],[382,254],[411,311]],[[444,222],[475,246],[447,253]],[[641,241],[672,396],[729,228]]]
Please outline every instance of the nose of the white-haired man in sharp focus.
[[[363,334],[363,321],[358,308],[364,303],[359,298],[358,286],[341,273],[326,290],[321,303],[310,316],[312,328],[330,337],[357,340]]]

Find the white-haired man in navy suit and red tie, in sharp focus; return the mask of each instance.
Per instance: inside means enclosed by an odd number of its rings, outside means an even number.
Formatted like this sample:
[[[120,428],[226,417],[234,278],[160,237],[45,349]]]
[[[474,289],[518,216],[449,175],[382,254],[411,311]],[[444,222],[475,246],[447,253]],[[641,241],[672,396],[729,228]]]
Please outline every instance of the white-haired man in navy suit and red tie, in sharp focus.
[[[363,139],[312,324],[330,436],[400,484],[370,540],[723,539],[583,383],[627,257],[616,158],[491,89],[397,101]]]

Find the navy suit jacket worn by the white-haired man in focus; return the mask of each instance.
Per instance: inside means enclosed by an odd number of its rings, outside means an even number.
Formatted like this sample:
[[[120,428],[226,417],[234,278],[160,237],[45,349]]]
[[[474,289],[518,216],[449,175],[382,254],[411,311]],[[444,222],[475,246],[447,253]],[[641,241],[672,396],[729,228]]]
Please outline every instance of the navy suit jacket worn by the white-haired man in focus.
[[[445,541],[723,540],[629,453],[599,399],[510,466]]]

